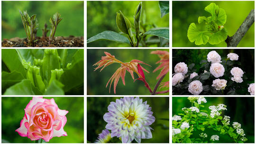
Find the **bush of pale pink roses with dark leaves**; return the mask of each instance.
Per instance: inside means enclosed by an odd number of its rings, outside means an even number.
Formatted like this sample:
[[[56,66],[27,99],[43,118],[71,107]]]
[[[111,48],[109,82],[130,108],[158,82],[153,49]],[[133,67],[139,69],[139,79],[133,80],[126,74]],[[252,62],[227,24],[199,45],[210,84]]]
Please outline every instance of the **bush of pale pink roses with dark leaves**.
[[[238,57],[238,54],[229,53],[221,58],[216,51],[210,51],[207,60],[201,60],[199,70],[194,68],[195,63],[177,63],[173,73],[173,95],[253,95],[250,83],[244,81],[247,76]],[[177,79],[178,72],[183,73],[183,79]]]

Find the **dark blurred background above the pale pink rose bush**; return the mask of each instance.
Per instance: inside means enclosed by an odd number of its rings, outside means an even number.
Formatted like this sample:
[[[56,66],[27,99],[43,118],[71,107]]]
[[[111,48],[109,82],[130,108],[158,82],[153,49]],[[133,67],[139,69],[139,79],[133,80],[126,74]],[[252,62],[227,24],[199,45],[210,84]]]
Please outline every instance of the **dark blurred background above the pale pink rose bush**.
[[[204,67],[200,69],[201,60],[207,61],[207,54],[213,51],[213,49],[173,49],[173,65],[172,71],[174,73],[174,67],[177,63],[184,62],[189,66],[191,63],[195,63],[194,68],[197,69],[197,73],[204,72]],[[254,71],[255,71],[255,61],[254,61],[254,49],[215,49],[215,51],[220,55],[221,58],[227,59],[229,53],[238,54],[238,62],[242,65],[234,65],[241,68],[247,76],[247,80],[243,83],[254,83]]]

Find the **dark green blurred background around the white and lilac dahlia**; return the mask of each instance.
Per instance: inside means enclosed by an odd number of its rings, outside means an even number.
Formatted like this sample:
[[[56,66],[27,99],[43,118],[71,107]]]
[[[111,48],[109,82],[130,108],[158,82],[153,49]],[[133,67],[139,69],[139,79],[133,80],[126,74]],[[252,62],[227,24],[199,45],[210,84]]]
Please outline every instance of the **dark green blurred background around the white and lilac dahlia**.
[[[87,97],[87,141],[94,143],[98,135],[105,129],[107,122],[104,121],[103,115],[108,112],[108,106],[111,101],[116,102],[119,97]],[[141,139],[141,143],[169,143],[169,121],[160,118],[169,119],[169,98],[168,97],[141,97],[147,101],[152,108],[155,122],[150,126],[154,130],[152,139]],[[97,107],[96,107],[97,106]],[[114,137],[111,143],[121,143]],[[133,142],[136,143],[134,140]]]

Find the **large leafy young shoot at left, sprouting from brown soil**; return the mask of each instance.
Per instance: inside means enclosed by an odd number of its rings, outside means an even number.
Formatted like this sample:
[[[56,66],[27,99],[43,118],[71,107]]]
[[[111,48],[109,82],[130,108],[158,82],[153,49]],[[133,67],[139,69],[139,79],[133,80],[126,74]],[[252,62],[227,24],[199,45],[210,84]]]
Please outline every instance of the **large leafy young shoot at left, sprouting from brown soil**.
[[[29,45],[34,46],[34,39],[37,36],[37,29],[39,26],[37,22],[37,15],[33,15],[30,18],[29,15],[27,14],[27,10],[24,11],[23,14],[19,10],[19,14],[27,35],[27,40],[29,42]]]

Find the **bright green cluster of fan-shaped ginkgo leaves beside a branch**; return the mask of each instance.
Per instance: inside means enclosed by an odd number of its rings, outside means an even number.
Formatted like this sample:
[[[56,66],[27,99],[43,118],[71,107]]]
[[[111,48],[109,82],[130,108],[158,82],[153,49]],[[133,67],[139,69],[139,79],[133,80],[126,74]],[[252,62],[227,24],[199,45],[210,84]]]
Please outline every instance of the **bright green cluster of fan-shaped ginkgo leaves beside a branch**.
[[[228,37],[228,31],[223,28],[226,23],[227,15],[224,9],[219,8],[215,3],[210,3],[205,7],[205,11],[211,14],[210,17],[199,17],[198,23],[206,25],[206,31],[200,31],[195,23],[190,24],[188,28],[188,38],[190,42],[196,45],[205,45],[209,42],[211,45],[219,44]]]

